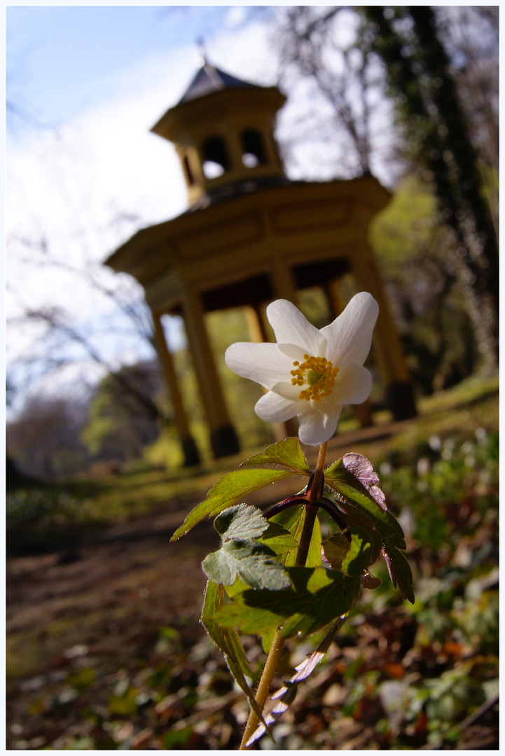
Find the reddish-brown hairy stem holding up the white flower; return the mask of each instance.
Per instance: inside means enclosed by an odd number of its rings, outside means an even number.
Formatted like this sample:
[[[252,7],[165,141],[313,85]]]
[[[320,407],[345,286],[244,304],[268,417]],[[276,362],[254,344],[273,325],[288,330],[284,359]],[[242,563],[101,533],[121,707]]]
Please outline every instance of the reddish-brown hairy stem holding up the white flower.
[[[309,500],[305,504],[305,520],[303,522],[299,547],[296,552],[296,567],[304,567],[305,562],[307,561],[308,547],[311,543],[312,530],[314,529],[314,522],[316,514],[318,513],[316,502],[320,497],[321,480],[323,476],[323,466],[324,459],[326,457],[327,445],[328,444],[326,442],[325,444],[321,444],[321,446],[319,447],[318,462],[316,463],[316,468],[314,470],[314,478],[312,479],[310,491],[308,491]],[[256,703],[259,705],[259,708],[261,708],[262,711],[265,707],[265,702],[267,700],[272,680],[274,680],[274,674],[277,670],[277,665],[279,664],[283,646],[284,641],[282,637],[282,630],[280,627],[277,627],[277,632],[274,635],[274,640],[272,641],[272,644],[270,646],[270,651],[268,652],[265,667],[263,668],[262,677],[259,680],[258,689],[256,691]],[[256,730],[258,723],[258,717],[256,717],[255,712],[251,709],[251,711],[249,712],[249,719],[246,723],[246,729],[243,731],[242,741],[240,742],[240,751],[245,751],[248,747],[246,746],[246,742]]]

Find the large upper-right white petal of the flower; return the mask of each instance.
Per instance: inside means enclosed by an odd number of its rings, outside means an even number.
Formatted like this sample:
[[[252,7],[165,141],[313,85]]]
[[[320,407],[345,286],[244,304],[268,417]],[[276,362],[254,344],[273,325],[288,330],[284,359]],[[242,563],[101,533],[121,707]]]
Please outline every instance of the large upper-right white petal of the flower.
[[[346,362],[362,365],[370,352],[379,305],[362,291],[353,296],[342,314],[321,329],[328,341],[327,359],[342,368]]]

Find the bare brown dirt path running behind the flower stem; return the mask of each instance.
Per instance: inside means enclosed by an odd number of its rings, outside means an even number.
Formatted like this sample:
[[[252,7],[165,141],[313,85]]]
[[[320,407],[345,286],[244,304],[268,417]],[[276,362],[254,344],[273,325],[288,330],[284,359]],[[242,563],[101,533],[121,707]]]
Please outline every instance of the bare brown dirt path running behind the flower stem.
[[[386,435],[403,427],[404,423],[389,426]],[[355,439],[348,435],[345,451],[373,458],[374,445],[384,434],[384,429],[368,429]],[[342,441],[336,439],[333,448],[339,444]],[[275,492],[264,489],[249,501],[273,503],[296,491],[298,482],[294,479],[294,487],[293,479],[277,484]],[[58,748],[53,714],[51,732],[46,732],[47,723],[46,730],[42,727],[44,705],[39,691],[53,679],[64,679],[79,654],[102,670],[108,668],[112,678],[121,665],[126,667],[129,659],[153,646],[161,627],[182,627],[187,646],[197,645],[204,637],[198,624],[206,584],[201,561],[218,547],[217,534],[206,520],[181,541],[169,544],[195,503],[171,501],[148,516],[110,526],[94,538],[90,535],[78,549],[69,544],[57,553],[8,559],[8,748]],[[246,710],[241,694],[229,691],[226,696],[227,706],[233,704],[228,700],[231,697],[240,699],[237,706]],[[38,730],[25,727],[27,708],[39,717]],[[60,733],[70,732],[69,723],[61,725]],[[207,738],[200,748],[230,745],[234,743],[209,745]],[[150,742],[148,747],[163,745]]]

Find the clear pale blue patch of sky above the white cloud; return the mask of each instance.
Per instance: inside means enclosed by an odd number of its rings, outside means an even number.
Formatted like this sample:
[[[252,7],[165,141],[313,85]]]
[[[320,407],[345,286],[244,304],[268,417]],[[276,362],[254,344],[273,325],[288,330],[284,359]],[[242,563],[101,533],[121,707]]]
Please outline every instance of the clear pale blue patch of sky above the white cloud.
[[[240,9],[8,7],[8,99],[42,123],[60,124],[113,96],[119,73],[145,57],[192,45],[196,58],[197,41],[211,40],[227,17],[240,20]]]

